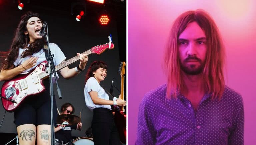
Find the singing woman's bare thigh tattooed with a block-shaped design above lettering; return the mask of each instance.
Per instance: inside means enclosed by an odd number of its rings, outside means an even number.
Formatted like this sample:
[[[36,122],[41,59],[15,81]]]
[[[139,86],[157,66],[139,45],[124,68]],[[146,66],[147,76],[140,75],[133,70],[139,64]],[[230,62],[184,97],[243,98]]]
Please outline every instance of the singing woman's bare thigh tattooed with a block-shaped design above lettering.
[[[36,127],[37,144],[38,145],[50,145],[51,144],[51,125],[38,125]]]

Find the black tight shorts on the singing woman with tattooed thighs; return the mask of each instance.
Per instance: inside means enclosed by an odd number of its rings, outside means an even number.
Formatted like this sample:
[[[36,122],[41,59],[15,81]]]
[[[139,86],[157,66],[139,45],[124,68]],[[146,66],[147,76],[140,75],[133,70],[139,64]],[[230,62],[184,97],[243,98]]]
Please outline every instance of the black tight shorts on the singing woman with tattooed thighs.
[[[16,127],[23,124],[51,125],[51,99],[49,91],[49,79],[44,80],[46,90],[38,95],[28,96],[19,108],[14,111],[14,123]],[[53,120],[56,124],[57,107],[53,96]]]

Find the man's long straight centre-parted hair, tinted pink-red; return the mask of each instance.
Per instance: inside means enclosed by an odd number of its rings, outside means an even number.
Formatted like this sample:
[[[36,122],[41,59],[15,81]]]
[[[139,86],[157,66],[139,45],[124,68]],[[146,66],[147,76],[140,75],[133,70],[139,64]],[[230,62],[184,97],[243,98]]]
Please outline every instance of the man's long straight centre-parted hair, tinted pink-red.
[[[181,64],[178,55],[178,38],[191,22],[196,22],[206,35],[206,62],[203,68],[203,80],[212,99],[221,98],[225,82],[223,67],[225,64],[225,48],[217,25],[204,10],[186,11],[173,23],[164,56],[164,68],[167,74],[166,98],[177,98],[183,88]]]

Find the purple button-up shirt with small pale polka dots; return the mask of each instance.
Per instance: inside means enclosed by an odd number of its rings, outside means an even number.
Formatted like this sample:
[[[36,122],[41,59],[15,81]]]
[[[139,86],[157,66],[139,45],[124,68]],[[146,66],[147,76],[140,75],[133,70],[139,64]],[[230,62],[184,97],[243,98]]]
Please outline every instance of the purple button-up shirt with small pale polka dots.
[[[195,111],[182,95],[166,99],[166,86],[145,94],[139,106],[137,145],[244,144],[240,94],[225,86],[221,100],[205,94]]]

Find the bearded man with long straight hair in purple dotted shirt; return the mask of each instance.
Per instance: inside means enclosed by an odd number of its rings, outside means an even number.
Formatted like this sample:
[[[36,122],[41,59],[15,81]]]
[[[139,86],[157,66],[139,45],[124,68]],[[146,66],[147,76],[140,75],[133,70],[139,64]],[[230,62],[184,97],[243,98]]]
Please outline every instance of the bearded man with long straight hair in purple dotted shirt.
[[[165,52],[167,84],[145,94],[136,144],[243,144],[243,100],[225,85],[224,56],[209,14],[181,14]]]

